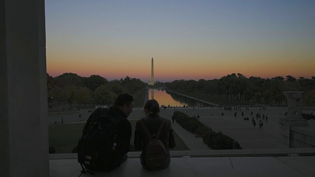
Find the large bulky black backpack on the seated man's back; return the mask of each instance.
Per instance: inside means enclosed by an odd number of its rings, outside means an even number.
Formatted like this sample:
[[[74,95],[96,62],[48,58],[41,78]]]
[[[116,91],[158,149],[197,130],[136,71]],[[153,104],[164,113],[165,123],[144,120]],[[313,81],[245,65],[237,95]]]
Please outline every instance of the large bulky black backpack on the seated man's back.
[[[78,142],[78,162],[81,173],[92,171],[111,171],[117,149],[115,138],[118,134],[119,121],[108,114],[107,108],[97,108],[83,129],[82,138]],[[84,169],[84,167],[86,169]]]

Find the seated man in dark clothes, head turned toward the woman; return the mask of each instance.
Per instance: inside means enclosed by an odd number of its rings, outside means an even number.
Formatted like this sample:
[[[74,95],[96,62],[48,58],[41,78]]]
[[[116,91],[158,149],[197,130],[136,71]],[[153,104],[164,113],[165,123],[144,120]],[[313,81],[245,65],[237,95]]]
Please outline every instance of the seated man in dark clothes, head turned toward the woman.
[[[86,145],[83,143],[83,145],[80,146],[80,141],[79,141],[79,146],[78,146],[79,163],[84,164],[84,166],[90,171],[111,171],[120,167],[120,165],[124,161],[126,161],[127,152],[130,149],[130,138],[131,138],[131,133],[132,133],[131,124],[129,120],[127,120],[127,117],[130,115],[130,113],[132,113],[132,108],[133,108],[132,96],[127,93],[124,93],[124,94],[119,95],[116,98],[114,106],[108,109],[106,108],[103,108],[101,110],[96,109],[95,112],[91,114],[90,118],[87,121],[85,129],[83,130],[83,136],[82,136],[83,141],[86,142],[85,137],[87,136],[85,136],[85,132],[87,132],[86,135],[89,135],[89,131],[85,131],[86,129],[89,129],[89,130],[94,129],[95,123],[97,125],[98,122],[101,122],[102,120],[105,121],[106,118],[109,118],[106,116],[110,115],[111,116],[110,118],[113,118],[113,120],[118,122],[117,129],[116,130],[114,130],[114,128],[111,129],[111,132],[115,131],[113,132],[113,134],[115,134],[114,144],[113,144],[113,147],[107,147],[108,142],[104,142],[104,143],[99,143],[98,141],[94,142],[94,140],[97,140],[97,139],[104,140],[104,138],[101,137],[104,135],[99,134],[98,132],[100,132],[101,129],[104,129],[104,127],[106,127],[106,123],[98,124],[97,127],[99,128],[99,130],[94,131],[93,133],[95,134],[90,133],[91,134],[90,136],[96,136],[96,137],[93,137],[93,139],[90,139],[91,141],[88,141]],[[108,129],[109,127],[106,127],[106,128]],[[117,131],[117,134],[116,134],[116,131]],[[103,133],[107,133],[105,129]],[[109,139],[106,139],[106,140],[110,141]],[[100,145],[104,147],[95,147],[95,145],[96,146]],[[81,156],[84,156],[84,157],[87,156],[85,155],[87,151],[85,149],[87,148],[91,149],[88,153],[93,154],[93,155],[96,154],[95,156],[93,156],[93,158],[95,157],[96,159],[94,160],[95,163],[93,165],[92,164],[89,165],[90,162],[85,163],[85,161],[88,161],[88,160],[84,160],[84,159],[81,160],[82,159]],[[111,148],[111,149],[114,148],[113,150],[115,153],[108,154],[108,152],[105,150],[108,148]],[[93,160],[93,158],[90,157],[90,160],[91,159]],[[99,162],[102,162],[102,163],[99,163]]]

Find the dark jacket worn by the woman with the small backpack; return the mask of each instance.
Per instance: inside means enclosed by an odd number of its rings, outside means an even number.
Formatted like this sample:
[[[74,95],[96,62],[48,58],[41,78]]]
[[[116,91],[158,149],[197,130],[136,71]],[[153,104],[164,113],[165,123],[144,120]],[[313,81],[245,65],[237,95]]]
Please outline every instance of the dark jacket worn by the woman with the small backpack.
[[[158,128],[163,121],[163,117],[159,116],[157,113],[150,113],[147,117],[142,118],[145,126],[151,135],[157,134]],[[174,138],[174,130],[169,119],[166,119],[165,124],[161,130],[161,133],[158,138],[165,146],[167,152],[167,166],[170,163],[170,153],[169,149],[174,148],[176,146],[175,138]],[[149,142],[149,137],[145,133],[139,121],[137,121],[136,129],[134,133],[134,148],[138,150],[142,150],[141,153],[141,163],[146,166],[145,163],[145,149],[146,145]],[[143,164],[144,163],[144,164]],[[166,167],[167,167],[166,166]],[[163,167],[162,167],[163,168]]]

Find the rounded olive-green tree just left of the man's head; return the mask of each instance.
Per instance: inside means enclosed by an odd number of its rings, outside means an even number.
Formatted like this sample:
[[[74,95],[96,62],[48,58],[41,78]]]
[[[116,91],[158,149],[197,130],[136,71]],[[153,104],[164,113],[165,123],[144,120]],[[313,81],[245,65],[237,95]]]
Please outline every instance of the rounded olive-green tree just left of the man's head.
[[[95,104],[109,105],[113,103],[113,98],[113,93],[106,86],[100,86],[95,89],[93,102]]]

